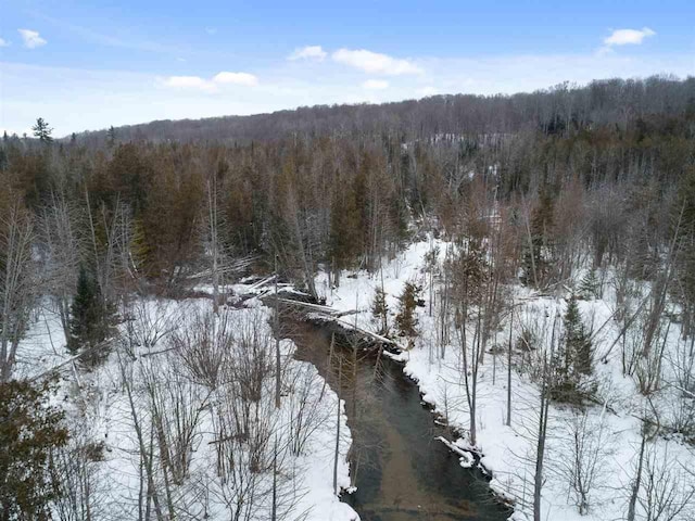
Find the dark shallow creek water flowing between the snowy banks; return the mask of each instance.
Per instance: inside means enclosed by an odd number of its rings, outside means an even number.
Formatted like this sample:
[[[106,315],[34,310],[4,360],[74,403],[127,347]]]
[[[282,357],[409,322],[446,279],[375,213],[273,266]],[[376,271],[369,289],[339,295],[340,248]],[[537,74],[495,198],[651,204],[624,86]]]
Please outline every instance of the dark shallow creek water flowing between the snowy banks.
[[[397,363],[380,357],[377,364],[374,352],[353,350],[343,340],[329,364],[327,328],[295,322],[292,330],[296,357],[315,364],[332,389],[340,379],[357,486],[343,499],[363,521],[507,519],[510,511],[494,500],[480,471],[462,468],[458,457],[434,440],[452,435],[434,424]]]

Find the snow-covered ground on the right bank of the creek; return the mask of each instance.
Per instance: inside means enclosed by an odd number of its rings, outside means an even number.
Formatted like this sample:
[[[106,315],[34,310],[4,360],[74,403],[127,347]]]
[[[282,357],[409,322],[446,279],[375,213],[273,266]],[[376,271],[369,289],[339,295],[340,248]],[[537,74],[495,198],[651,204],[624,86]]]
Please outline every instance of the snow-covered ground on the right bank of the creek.
[[[437,277],[432,293],[429,291],[429,274],[425,269],[425,256],[433,246],[439,246],[440,260],[446,243],[425,240],[410,244],[404,252],[387,263],[375,275],[365,271],[343,274],[339,288],[329,284],[326,274],[319,274],[316,288],[326,297],[328,306],[340,310],[358,309],[350,321],[358,327],[376,331],[370,304],[377,288],[383,287],[391,320],[397,308],[397,296],[407,281],[422,287],[425,307],[417,308],[420,334],[415,347],[405,351],[400,358],[404,371],[418,382],[424,398],[447,418],[450,424],[466,433],[469,412],[462,376],[460,346],[452,334],[445,351],[438,347],[437,302],[429,315],[430,294],[437,298]],[[580,272],[581,275],[581,272]],[[665,422],[682,414],[683,394],[668,385],[677,367],[675,353],[684,347],[680,340],[680,327],[669,326],[665,333],[664,382],[660,391],[650,397],[652,404],[640,394],[631,377],[622,373],[621,348],[614,345],[619,336],[619,325],[611,318],[615,309],[615,291],[610,277],[604,284],[603,298],[580,301],[580,309],[587,326],[596,331],[594,338],[596,405],[584,412],[569,406],[553,404],[549,409],[547,449],[545,456],[544,485],[542,491],[542,518],[547,520],[618,520],[627,519],[628,503],[641,448],[641,420],[652,406],[659,411]],[[552,323],[557,315],[565,313],[567,294],[536,296],[522,287],[509,289],[514,295],[516,316],[511,338],[522,329],[533,330],[540,343],[539,352],[547,348]],[[472,335],[471,335],[472,336]],[[493,473],[492,486],[501,495],[515,499],[514,520],[532,519],[533,475],[535,466],[539,422],[540,390],[523,369],[522,355],[515,352],[511,371],[511,424],[506,425],[507,411],[507,363],[506,345],[509,336],[509,320],[502,323],[497,336],[484,355],[478,382],[477,447],[481,461]],[[612,348],[611,348],[612,346]],[[529,355],[530,356],[530,355]],[[538,356],[538,355],[536,355]],[[592,463],[589,491],[589,512],[580,516],[576,493],[571,482],[576,479],[573,460],[576,434],[582,432],[583,458]],[[662,430],[668,432],[667,430]],[[458,446],[470,448],[467,439],[454,441]],[[591,455],[591,457],[589,456]],[[695,476],[695,452],[674,435],[658,435],[648,440],[642,472],[642,488],[635,506],[637,520],[693,520]],[[654,501],[671,506],[657,514]],[[672,517],[671,517],[672,516]]]

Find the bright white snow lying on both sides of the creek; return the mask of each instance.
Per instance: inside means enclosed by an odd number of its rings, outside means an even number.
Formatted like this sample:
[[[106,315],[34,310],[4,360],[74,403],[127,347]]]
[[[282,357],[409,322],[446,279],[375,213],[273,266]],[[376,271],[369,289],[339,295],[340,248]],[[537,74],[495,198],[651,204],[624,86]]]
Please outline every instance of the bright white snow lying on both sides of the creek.
[[[530,378],[528,371],[519,368],[520,355],[515,353],[515,367],[511,371],[511,425],[505,424],[507,409],[507,371],[506,353],[496,350],[485,354],[484,364],[479,373],[477,445],[471,446],[467,433],[469,414],[465,387],[462,383],[460,347],[455,343],[445,346],[442,354],[435,327],[437,291],[432,317],[429,316],[430,285],[429,274],[425,269],[425,257],[434,247],[439,250],[439,259],[444,256],[448,244],[441,240],[428,238],[408,245],[393,258],[387,259],[383,268],[377,274],[357,271],[342,274],[339,288],[332,288],[328,276],[319,272],[316,277],[316,288],[320,296],[326,297],[326,305],[339,314],[356,312],[341,318],[343,325],[355,326],[364,330],[375,331],[370,304],[377,288],[383,288],[391,318],[397,307],[397,296],[408,281],[422,287],[425,307],[417,308],[420,334],[415,347],[402,348],[401,354],[384,355],[403,363],[406,374],[417,381],[422,399],[453,427],[463,434],[458,440],[441,440],[452,450],[462,456],[462,466],[475,465],[469,453],[480,456],[482,466],[492,473],[491,487],[502,497],[515,501],[515,512],[510,519],[526,521],[532,519],[531,506],[533,494],[533,473],[535,461],[534,432],[538,429],[539,386]],[[577,274],[581,279],[582,271]],[[546,452],[546,472],[542,493],[543,519],[560,521],[578,520],[610,520],[624,519],[630,487],[635,475],[636,460],[641,445],[641,420],[645,410],[654,408],[661,412],[664,422],[673,422],[682,414],[683,393],[674,385],[665,384],[659,392],[654,393],[650,403],[639,393],[633,378],[623,376],[621,369],[621,350],[615,345],[619,336],[619,325],[612,318],[616,306],[616,294],[609,283],[614,277],[611,270],[606,271],[607,283],[604,285],[603,298],[580,301],[580,309],[585,323],[593,325],[597,331],[594,339],[596,354],[595,373],[597,390],[596,404],[586,408],[586,424],[589,431],[599,434],[598,446],[599,470],[594,488],[590,496],[590,509],[580,516],[576,507],[576,499],[568,485],[568,462],[571,461],[572,424],[581,420],[581,415],[569,406],[553,404],[549,410],[548,441]],[[267,289],[257,282],[236,284],[227,288],[236,294],[262,295]],[[434,277],[433,290],[440,281]],[[642,294],[648,292],[646,284],[634,284]],[[211,292],[210,288],[199,288]],[[288,289],[283,289],[288,291]],[[290,288],[289,291],[292,291]],[[549,329],[554,317],[561,317],[566,309],[566,294],[555,296],[538,295],[519,285],[509,288],[517,305],[511,336],[517,339],[523,327],[531,328],[539,334],[540,348],[535,355],[541,356],[549,344]],[[172,323],[182,325],[189,320],[195,309],[210,307],[207,300],[187,300],[181,302],[149,300],[141,303],[138,320],[142,327],[143,338],[157,339],[166,336],[167,328]],[[244,302],[244,306],[230,310],[235,316],[235,323],[263,325],[265,333],[269,332],[268,314],[258,297]],[[677,310],[677,309],[675,309]],[[675,315],[675,313],[674,313]],[[330,315],[326,319],[336,320]],[[508,320],[502,323],[497,338],[491,341],[491,346],[501,344],[506,346],[509,336]],[[406,342],[396,339],[402,347]],[[664,380],[672,382],[674,371],[678,370],[679,350],[685,348],[680,340],[680,327],[670,325],[665,334]],[[156,371],[173,369],[173,360],[166,353],[165,341],[154,342],[156,345],[138,348],[138,363],[142,367]],[[27,338],[18,351],[17,376],[31,377],[40,374],[51,367],[55,367],[68,358],[64,350],[65,339],[60,320],[45,303],[34,317]],[[614,346],[611,348],[611,346]],[[336,431],[337,395],[326,387],[316,369],[308,363],[292,358],[294,345],[282,342],[282,357],[287,361],[290,380],[307,379],[308,399],[318,405],[316,415],[321,418],[319,425],[309,436],[304,450],[299,456],[289,457],[282,462],[286,491],[292,491],[294,512],[307,512],[308,520],[314,521],[348,521],[358,519],[352,508],[339,500],[332,491],[332,462]],[[148,353],[151,352],[151,353]],[[143,356],[151,354],[152,356]],[[148,360],[148,361],[142,361]],[[140,367],[140,366],[138,366]],[[81,389],[75,384],[79,378]],[[137,508],[139,486],[139,459],[136,456],[137,440],[124,380],[119,370],[117,357],[112,354],[108,363],[97,371],[85,373],[75,371],[72,366],[63,368],[62,392],[56,401],[64,405],[68,418],[79,432],[79,436],[89,440],[104,440],[108,447],[106,460],[98,469],[101,479],[100,504],[108,510],[111,519],[129,519]],[[134,390],[137,394],[137,406],[147,416],[146,402],[141,389],[141,373],[132,372]],[[300,387],[298,387],[300,389]],[[304,389],[304,387],[302,387]],[[200,390],[199,390],[200,391]],[[271,418],[270,428],[278,432],[280,442],[287,435],[287,428],[292,421],[293,401],[298,398],[298,391],[291,390],[282,398],[280,410],[267,412]],[[341,405],[342,406],[342,405]],[[344,407],[344,406],[343,406]],[[346,454],[351,444],[350,430],[346,425],[344,410],[340,416],[341,436],[338,482],[342,488],[350,485],[350,469]],[[78,429],[77,429],[78,428]],[[195,442],[195,456],[187,483],[176,493],[181,501],[190,504],[191,508],[200,507],[199,492],[201,487],[215,490],[212,441],[213,429],[210,419],[203,421]],[[695,454],[690,445],[677,435],[659,435],[648,442],[648,466],[656,474],[670,480],[674,484],[674,494],[687,496],[693,483],[688,469],[695,469]],[[260,478],[258,487],[267,487],[270,473]],[[658,486],[658,483],[655,484]],[[219,492],[217,487],[217,492]],[[294,492],[295,491],[295,492]],[[288,492],[290,494],[290,492]],[[211,494],[207,498],[213,519],[225,518],[225,505],[220,495]],[[198,503],[197,503],[198,501]],[[258,519],[264,519],[261,513]],[[637,504],[636,519],[647,519],[644,505]],[[673,521],[695,519],[695,505],[688,498],[683,509],[675,514]]]

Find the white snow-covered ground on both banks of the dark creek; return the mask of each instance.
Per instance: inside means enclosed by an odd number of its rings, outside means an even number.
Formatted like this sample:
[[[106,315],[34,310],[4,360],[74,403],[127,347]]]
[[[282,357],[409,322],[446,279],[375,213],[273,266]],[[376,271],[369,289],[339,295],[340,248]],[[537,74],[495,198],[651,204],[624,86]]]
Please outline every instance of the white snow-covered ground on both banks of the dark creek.
[[[376,289],[383,287],[392,320],[397,308],[397,296],[405,283],[415,281],[421,284],[425,307],[417,308],[420,334],[415,347],[400,355],[404,363],[404,371],[418,382],[424,398],[432,404],[450,424],[464,433],[463,439],[452,442],[464,449],[472,448],[480,454],[482,465],[493,473],[492,487],[501,495],[515,500],[516,511],[513,519],[532,519],[530,508],[536,446],[534,433],[538,430],[540,392],[538,383],[532,380],[528,370],[532,360],[525,358],[533,355],[523,355],[515,350],[510,372],[511,424],[506,425],[506,353],[505,348],[489,348],[478,382],[477,446],[470,447],[465,434],[469,428],[469,414],[462,376],[460,346],[456,344],[455,334],[451,335],[451,342],[445,344],[443,350],[440,345],[435,318],[440,280],[438,277],[433,278],[433,291],[430,293],[429,274],[424,268],[426,255],[434,246],[439,247],[441,262],[446,243],[439,240],[419,241],[384,264],[378,274],[344,272],[339,288],[331,288],[326,274],[319,274],[316,288],[326,297],[327,305],[344,312],[358,310],[350,315],[351,323],[356,321],[357,326],[376,331],[377,326],[372,322],[370,313]],[[577,279],[581,278],[581,275],[580,271]],[[551,406],[542,491],[543,519],[626,519],[642,441],[640,418],[654,416],[652,412],[656,410],[665,425],[675,424],[679,418],[692,409],[688,409],[691,404],[687,403],[691,398],[672,384],[675,381],[675,372],[683,370],[682,353],[687,351],[690,345],[680,339],[678,323],[670,323],[664,332],[665,352],[659,391],[653,393],[647,401],[639,392],[634,377],[623,374],[623,342],[618,345],[615,343],[619,338],[620,325],[611,318],[616,306],[611,277],[612,272],[608,271],[602,298],[579,302],[584,322],[596,331],[596,403],[586,407],[584,412],[558,404]],[[240,284],[232,290],[236,293],[250,293],[257,288]],[[641,290],[642,294],[647,291],[645,288]],[[509,288],[509,292],[516,303],[511,338],[516,341],[522,330],[533,330],[539,340],[540,347],[535,355],[538,356],[549,344],[554,317],[561,317],[565,313],[567,294],[540,296],[522,287]],[[429,313],[430,294],[434,296],[432,316]],[[244,325],[255,325],[261,335],[269,338],[269,310],[257,298],[247,301],[245,305],[245,308],[228,310],[230,330],[242,331]],[[58,399],[68,411],[76,442],[105,442],[105,460],[94,462],[90,467],[97,485],[92,491],[98,499],[94,504],[98,511],[92,512],[94,519],[135,517],[142,469],[138,455],[140,442],[135,431],[128,386],[135,398],[138,420],[141,424],[149,425],[153,398],[148,391],[148,379],[152,376],[165,376],[163,380],[166,381],[169,377],[181,377],[180,359],[176,350],[170,350],[168,341],[170,330],[186,329],[192,320],[191,317],[210,307],[208,300],[142,302],[134,307],[136,320],[132,323],[138,325],[139,338],[150,341],[140,342],[141,345],[135,347],[135,359],[125,356],[123,350],[116,350],[103,367],[92,372],[75,371],[71,365],[63,367],[63,381]],[[508,338],[507,318],[502,322],[489,347],[506,347]],[[156,341],[152,342],[154,339]],[[148,343],[149,346],[146,346]],[[31,328],[22,344],[17,374],[35,376],[63,363],[68,358],[64,344],[60,321],[47,303],[34,317]],[[329,387],[324,386],[323,379],[311,364],[298,361],[291,356],[293,350],[291,342],[282,342],[286,374],[280,409],[276,411],[271,406],[271,382],[264,383],[264,399],[257,405],[258,418],[263,420],[261,423],[271,432],[278,433],[278,446],[287,447],[293,437],[291,433],[295,430],[292,425],[296,425],[299,404],[312,404],[307,410],[312,410],[312,424],[316,428],[311,430],[299,454],[283,450],[278,465],[281,469],[278,479],[280,503],[291,505],[294,516],[307,512],[308,520],[358,519],[348,505],[340,503],[332,490],[337,396]],[[121,353],[121,358],[117,353]],[[162,381],[161,378],[155,380],[160,383]],[[228,504],[235,500],[235,486],[229,482],[222,483],[217,479],[214,448],[216,444],[211,442],[215,441],[218,425],[211,412],[211,403],[217,401],[214,404],[215,407],[219,407],[229,396],[210,394],[204,386],[190,385],[190,382],[184,383],[184,387],[190,393],[187,399],[204,406],[200,407],[201,419],[193,436],[190,468],[186,479],[181,484],[169,484],[172,500],[180,507],[185,506],[190,512],[200,514],[206,511],[212,519],[226,519],[229,516]],[[164,389],[166,390],[166,386]],[[166,393],[157,394],[156,397],[170,399],[166,397]],[[165,406],[167,404],[164,402]],[[340,421],[343,436],[340,441],[338,483],[348,487],[350,475],[346,454],[351,439],[344,414],[341,415]],[[578,429],[578,425],[581,429]],[[144,430],[146,442],[156,446],[156,440],[150,441],[151,430]],[[594,465],[591,475],[593,486],[589,492],[589,512],[584,516],[580,516],[578,511],[576,493],[571,486],[572,479],[576,479],[572,461],[577,456],[573,447],[579,431],[591,434],[583,439],[583,446]],[[646,443],[635,520],[695,519],[695,500],[692,497],[695,479],[690,473],[695,469],[695,453],[691,445],[677,435],[668,435],[668,429],[662,429],[659,435],[650,437]],[[271,448],[266,447],[266,456],[268,450],[271,452]],[[156,449],[153,453],[156,454]],[[240,458],[249,458],[249,455],[241,450]],[[469,458],[462,458],[463,463],[468,460]],[[155,469],[155,474],[161,481],[161,468]],[[260,499],[257,514],[251,519],[268,519],[268,495],[263,492],[267,492],[270,486],[271,475],[267,468],[253,474],[254,488]],[[165,490],[164,483],[157,482],[156,485],[161,491]],[[657,514],[654,508],[655,500],[670,501],[671,506]],[[652,513],[648,512],[649,509]]]

